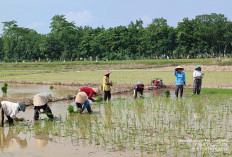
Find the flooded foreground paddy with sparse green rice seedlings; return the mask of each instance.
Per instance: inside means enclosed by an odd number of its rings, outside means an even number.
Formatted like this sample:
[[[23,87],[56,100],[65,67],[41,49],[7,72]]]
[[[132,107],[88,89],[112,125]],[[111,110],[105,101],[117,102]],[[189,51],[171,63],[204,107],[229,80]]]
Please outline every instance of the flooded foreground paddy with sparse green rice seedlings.
[[[0,128],[0,156],[231,155],[232,98],[228,95],[186,94],[176,99],[173,91],[166,97],[157,90],[136,100],[131,93],[114,95],[111,102],[91,103],[91,115],[69,114],[68,105],[75,106],[74,101],[49,103],[55,119],[41,114],[38,122],[28,106],[18,114],[25,121]]]

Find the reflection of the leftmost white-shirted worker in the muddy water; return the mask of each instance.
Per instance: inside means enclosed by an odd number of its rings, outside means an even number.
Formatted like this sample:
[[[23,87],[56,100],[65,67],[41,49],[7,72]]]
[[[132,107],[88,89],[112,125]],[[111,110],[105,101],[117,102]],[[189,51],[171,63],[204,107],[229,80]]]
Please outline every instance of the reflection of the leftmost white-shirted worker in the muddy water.
[[[27,140],[20,138],[18,132],[9,128],[7,134],[6,129],[0,128],[0,150],[6,151],[10,148],[20,147],[24,149],[27,147]]]

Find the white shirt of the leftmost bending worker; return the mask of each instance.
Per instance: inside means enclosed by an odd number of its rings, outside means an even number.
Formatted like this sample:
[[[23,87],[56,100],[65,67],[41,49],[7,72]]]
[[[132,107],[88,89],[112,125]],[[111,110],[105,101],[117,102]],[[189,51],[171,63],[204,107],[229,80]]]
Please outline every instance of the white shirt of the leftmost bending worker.
[[[19,104],[13,103],[9,101],[1,102],[2,109],[6,116],[10,116],[11,118],[17,118],[15,115],[19,113]]]

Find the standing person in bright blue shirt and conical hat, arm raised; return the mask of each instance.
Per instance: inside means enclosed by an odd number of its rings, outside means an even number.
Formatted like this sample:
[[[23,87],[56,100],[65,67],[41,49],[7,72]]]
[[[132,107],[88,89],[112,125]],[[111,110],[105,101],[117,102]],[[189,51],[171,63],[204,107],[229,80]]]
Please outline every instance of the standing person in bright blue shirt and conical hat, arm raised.
[[[184,85],[186,84],[186,80],[185,80],[185,73],[183,72],[184,68],[181,66],[178,66],[175,69],[174,72],[174,76],[176,76],[176,80],[175,80],[175,95],[178,98],[179,95],[179,91],[180,91],[180,97],[183,96],[183,92],[184,92]]]

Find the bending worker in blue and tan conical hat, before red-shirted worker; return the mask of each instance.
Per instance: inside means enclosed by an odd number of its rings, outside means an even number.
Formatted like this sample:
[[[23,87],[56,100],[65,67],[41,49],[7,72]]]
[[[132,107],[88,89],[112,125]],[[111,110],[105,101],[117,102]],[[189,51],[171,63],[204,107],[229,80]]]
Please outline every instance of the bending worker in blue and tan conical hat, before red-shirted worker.
[[[88,100],[88,95],[85,92],[82,92],[82,91],[78,92],[75,98],[75,103],[80,113],[82,113],[86,108],[89,114],[92,113],[92,109],[91,109],[91,106]]]

